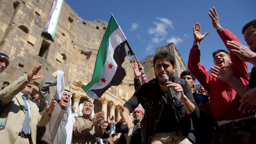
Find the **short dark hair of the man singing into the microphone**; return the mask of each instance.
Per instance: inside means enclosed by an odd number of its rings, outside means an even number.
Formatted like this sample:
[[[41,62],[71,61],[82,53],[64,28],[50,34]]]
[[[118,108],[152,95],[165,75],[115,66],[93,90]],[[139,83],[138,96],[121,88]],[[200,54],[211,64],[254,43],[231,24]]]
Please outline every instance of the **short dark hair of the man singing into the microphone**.
[[[175,66],[175,59],[174,56],[167,50],[161,50],[159,51],[153,58],[153,65],[155,66],[156,64],[156,60],[158,60],[159,58],[166,58],[171,64],[172,66]]]

